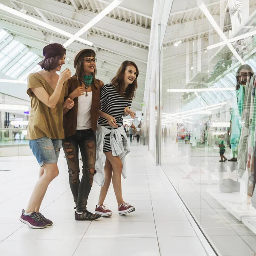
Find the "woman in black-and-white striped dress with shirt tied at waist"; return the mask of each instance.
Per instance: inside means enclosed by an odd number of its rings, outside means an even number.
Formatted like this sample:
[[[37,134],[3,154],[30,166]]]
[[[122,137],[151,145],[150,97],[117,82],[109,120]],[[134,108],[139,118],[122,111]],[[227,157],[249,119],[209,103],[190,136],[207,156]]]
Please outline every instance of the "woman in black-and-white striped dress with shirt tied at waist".
[[[102,103],[99,111],[99,121],[96,130],[97,135],[97,171],[94,180],[102,186],[99,202],[95,213],[102,216],[112,215],[111,210],[103,205],[111,180],[116,195],[119,214],[135,211],[135,208],[125,203],[122,198],[121,174],[126,177],[123,160],[130,151],[127,136],[123,128],[122,116],[135,118],[135,113],[130,110],[131,102],[137,89],[137,77],[139,70],[132,61],[124,61],[111,80],[110,84],[102,87],[100,101]],[[106,155],[103,171],[102,156]],[[104,175],[105,172],[105,175]]]

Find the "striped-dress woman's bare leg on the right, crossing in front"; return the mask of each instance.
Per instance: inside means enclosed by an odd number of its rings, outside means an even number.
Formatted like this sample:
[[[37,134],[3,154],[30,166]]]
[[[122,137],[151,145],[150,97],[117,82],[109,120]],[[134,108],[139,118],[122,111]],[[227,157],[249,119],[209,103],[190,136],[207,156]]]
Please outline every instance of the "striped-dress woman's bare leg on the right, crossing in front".
[[[112,183],[114,192],[116,195],[116,201],[118,206],[120,206],[124,200],[122,198],[122,181],[121,181],[121,174],[122,174],[122,161],[120,157],[113,157],[112,151],[105,152],[106,157],[108,158],[111,166],[113,167],[113,175],[112,175]]]

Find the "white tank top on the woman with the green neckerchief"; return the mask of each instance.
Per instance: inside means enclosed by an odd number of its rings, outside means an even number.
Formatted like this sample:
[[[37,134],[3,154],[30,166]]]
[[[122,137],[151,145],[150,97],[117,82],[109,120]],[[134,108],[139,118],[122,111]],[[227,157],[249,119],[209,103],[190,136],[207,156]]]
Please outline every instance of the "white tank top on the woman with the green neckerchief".
[[[88,96],[78,97],[77,125],[76,130],[86,130],[92,128],[90,110],[92,107],[93,92],[88,92]]]

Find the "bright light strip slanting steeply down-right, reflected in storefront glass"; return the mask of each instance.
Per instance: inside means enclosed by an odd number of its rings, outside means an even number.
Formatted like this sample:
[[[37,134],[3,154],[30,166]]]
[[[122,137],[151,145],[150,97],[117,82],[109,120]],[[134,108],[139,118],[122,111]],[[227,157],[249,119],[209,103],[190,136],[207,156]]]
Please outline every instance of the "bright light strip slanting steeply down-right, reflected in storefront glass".
[[[207,17],[209,22],[212,24],[213,28],[216,30],[216,32],[219,34],[219,36],[222,38],[222,40],[227,44],[227,47],[230,49],[230,51],[234,54],[234,56],[238,59],[238,61],[241,64],[245,64],[244,60],[240,57],[240,55],[236,52],[235,48],[233,45],[230,43],[230,41],[227,39],[227,37],[224,35],[223,31],[221,28],[218,26],[217,22],[215,19],[212,17],[210,14],[209,10],[204,4],[203,0],[197,0],[197,4],[199,8],[201,9],[202,12],[204,12],[204,15]]]

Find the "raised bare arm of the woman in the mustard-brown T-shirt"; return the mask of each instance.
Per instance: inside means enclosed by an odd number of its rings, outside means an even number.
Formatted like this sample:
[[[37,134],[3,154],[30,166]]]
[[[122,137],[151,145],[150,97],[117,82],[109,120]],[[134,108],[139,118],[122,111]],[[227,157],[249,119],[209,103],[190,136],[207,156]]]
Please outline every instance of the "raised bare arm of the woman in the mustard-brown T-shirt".
[[[60,99],[63,84],[65,81],[70,79],[70,76],[71,76],[71,72],[68,68],[63,72],[61,72],[61,75],[58,79],[57,86],[51,96],[49,96],[47,91],[44,90],[44,88],[42,87],[31,88],[30,90],[32,90],[35,96],[45,105],[47,105],[47,107],[55,108],[58,100]]]

